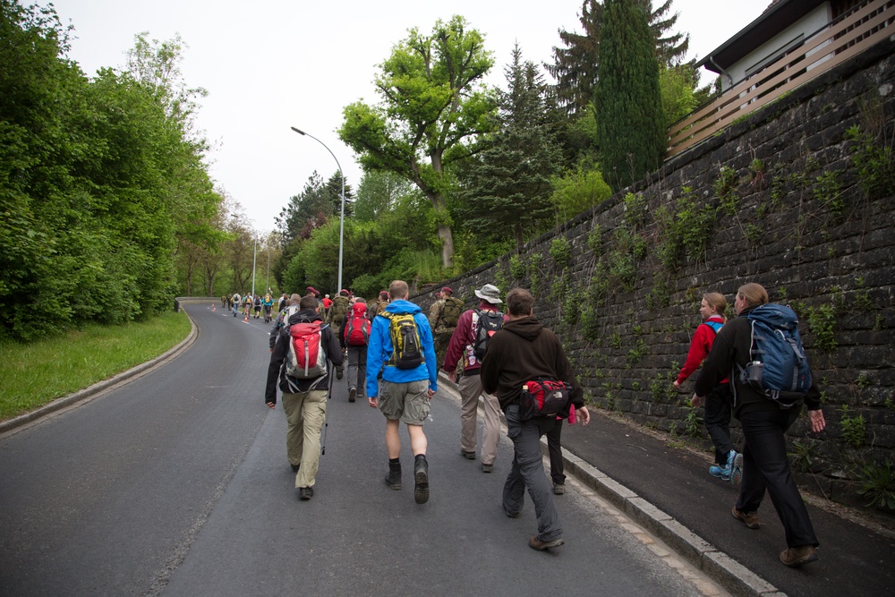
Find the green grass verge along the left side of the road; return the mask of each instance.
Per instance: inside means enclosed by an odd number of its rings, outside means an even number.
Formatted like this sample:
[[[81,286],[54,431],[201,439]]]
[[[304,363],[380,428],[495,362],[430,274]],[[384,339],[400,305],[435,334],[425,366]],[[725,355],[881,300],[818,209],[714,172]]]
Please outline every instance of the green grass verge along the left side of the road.
[[[190,333],[183,311],[125,326],[91,325],[29,344],[0,343],[0,421],[107,380]]]

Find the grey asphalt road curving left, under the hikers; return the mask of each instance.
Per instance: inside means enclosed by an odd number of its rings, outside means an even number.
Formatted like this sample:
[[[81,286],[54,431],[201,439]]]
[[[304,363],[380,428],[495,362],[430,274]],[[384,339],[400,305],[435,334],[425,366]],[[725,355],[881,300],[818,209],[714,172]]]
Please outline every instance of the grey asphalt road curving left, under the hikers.
[[[268,326],[187,310],[200,335],[173,362],[0,437],[0,595],[700,594],[574,486],[567,544],[529,549],[531,501],[517,519],[500,506],[508,439],[482,473],[440,394],[429,503],[386,487],[384,419],[345,380],[299,501],[285,416],[263,405]]]

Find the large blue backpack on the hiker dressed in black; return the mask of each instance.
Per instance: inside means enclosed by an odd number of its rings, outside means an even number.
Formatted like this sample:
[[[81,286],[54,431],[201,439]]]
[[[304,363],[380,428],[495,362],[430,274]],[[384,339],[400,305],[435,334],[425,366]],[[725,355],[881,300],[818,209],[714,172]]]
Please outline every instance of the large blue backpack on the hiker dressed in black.
[[[746,313],[752,325],[752,348],[739,380],[780,408],[801,404],[811,388],[811,370],[798,336],[796,312],[780,304],[763,304]]]

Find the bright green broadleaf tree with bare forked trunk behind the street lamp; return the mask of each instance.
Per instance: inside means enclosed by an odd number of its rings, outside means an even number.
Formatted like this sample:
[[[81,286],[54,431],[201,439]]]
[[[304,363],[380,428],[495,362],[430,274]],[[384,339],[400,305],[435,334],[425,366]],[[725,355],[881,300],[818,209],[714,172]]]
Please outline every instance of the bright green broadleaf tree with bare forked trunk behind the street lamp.
[[[339,137],[367,170],[388,170],[413,182],[435,210],[444,267],[454,240],[447,212],[446,172],[490,131],[493,93],[482,83],[493,60],[482,34],[463,17],[437,21],[430,34],[412,29],[380,64],[379,105],[345,107]]]

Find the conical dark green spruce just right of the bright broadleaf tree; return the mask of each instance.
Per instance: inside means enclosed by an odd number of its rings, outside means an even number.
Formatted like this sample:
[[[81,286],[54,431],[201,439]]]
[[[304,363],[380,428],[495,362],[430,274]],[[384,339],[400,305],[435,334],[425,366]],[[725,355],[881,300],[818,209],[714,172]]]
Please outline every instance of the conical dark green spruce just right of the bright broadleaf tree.
[[[518,44],[504,73],[507,90],[498,92],[498,130],[483,141],[465,171],[459,210],[465,228],[480,241],[512,230],[521,248],[526,233],[553,219],[550,178],[559,172],[561,153],[547,85],[532,62],[523,62]]]

